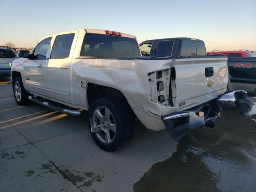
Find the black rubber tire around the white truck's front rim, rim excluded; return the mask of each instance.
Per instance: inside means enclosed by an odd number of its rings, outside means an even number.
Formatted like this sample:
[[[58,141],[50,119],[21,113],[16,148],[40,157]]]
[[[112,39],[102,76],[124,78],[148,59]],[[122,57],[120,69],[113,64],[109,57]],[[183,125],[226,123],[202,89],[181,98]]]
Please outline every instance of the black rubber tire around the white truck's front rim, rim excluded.
[[[21,98],[17,98],[17,96],[15,94],[15,84],[16,84],[16,82],[18,82],[18,84],[20,85]],[[29,103],[29,100],[28,100],[29,94],[24,89],[21,77],[15,77],[14,78],[14,80],[12,82],[12,90],[13,90],[14,98],[15,98],[18,105],[26,105],[26,104]]]

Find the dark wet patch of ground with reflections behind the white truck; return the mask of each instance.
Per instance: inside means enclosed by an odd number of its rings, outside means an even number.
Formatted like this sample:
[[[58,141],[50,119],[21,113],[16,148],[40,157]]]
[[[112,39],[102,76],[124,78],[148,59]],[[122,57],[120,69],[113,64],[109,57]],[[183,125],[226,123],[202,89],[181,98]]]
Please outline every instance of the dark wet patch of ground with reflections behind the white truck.
[[[254,106],[255,107],[255,106]],[[236,109],[221,112],[214,129],[185,136],[177,152],[156,163],[134,184],[134,191],[256,191],[256,116]]]

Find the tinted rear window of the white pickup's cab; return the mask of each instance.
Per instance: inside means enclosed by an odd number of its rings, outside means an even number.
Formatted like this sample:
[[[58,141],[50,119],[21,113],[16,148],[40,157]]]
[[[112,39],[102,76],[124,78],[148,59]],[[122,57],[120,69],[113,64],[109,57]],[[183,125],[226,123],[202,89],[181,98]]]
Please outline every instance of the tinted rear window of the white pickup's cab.
[[[125,58],[141,55],[135,38],[88,33],[84,36],[80,56]]]

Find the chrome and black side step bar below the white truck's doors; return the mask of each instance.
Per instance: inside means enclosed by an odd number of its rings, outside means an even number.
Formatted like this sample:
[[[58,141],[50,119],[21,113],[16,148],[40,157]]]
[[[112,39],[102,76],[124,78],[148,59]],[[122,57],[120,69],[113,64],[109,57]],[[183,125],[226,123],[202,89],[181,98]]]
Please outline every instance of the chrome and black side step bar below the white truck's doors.
[[[40,105],[46,106],[48,108],[51,108],[53,110],[56,110],[56,111],[59,111],[59,112],[62,112],[62,113],[65,113],[65,114],[68,114],[68,115],[71,115],[71,116],[80,116],[80,114],[81,114],[81,112],[78,111],[78,110],[71,110],[71,109],[62,108],[62,107],[54,105],[50,102],[41,100],[39,98],[35,98],[32,95],[28,96],[28,99],[33,101],[33,102],[36,102]]]

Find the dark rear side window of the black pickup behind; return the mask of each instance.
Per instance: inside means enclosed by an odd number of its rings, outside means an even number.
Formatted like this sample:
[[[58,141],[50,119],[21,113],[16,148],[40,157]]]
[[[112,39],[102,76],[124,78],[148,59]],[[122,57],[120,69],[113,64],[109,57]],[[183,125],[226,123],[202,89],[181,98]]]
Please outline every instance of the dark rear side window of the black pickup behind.
[[[156,46],[156,57],[172,56],[172,46],[174,41],[158,41]]]

